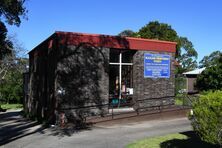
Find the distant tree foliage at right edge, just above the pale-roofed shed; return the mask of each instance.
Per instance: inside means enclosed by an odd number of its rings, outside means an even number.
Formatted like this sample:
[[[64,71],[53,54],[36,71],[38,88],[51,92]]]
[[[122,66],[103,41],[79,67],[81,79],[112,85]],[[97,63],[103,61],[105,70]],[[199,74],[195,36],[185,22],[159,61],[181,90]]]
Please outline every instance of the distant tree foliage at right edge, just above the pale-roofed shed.
[[[203,59],[199,63],[199,67],[209,67],[216,65],[219,62],[221,51],[217,50],[212,52],[209,56],[204,56]]]

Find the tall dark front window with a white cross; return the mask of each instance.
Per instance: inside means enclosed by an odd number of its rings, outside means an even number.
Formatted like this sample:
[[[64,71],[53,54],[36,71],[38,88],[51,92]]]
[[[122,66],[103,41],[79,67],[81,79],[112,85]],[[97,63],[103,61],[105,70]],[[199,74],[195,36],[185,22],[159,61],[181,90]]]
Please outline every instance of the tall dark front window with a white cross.
[[[133,55],[135,52],[133,50],[110,49],[110,97],[122,99],[126,94],[132,94]]]

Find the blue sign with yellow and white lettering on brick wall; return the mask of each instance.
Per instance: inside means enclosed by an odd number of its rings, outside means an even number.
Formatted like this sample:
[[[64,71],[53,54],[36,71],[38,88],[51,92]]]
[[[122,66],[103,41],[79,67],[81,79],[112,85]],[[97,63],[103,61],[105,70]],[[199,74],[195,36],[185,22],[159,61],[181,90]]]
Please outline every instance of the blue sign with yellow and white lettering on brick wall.
[[[144,54],[145,78],[170,78],[170,55]]]

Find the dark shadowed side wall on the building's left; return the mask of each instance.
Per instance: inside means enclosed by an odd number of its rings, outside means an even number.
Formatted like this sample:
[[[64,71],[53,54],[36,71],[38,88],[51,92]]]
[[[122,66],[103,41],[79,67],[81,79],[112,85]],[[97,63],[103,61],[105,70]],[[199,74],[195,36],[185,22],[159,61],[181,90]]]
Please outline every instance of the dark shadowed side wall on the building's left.
[[[53,48],[55,48],[54,46]],[[38,120],[55,121],[56,52],[42,44],[29,53],[29,92],[25,113]]]

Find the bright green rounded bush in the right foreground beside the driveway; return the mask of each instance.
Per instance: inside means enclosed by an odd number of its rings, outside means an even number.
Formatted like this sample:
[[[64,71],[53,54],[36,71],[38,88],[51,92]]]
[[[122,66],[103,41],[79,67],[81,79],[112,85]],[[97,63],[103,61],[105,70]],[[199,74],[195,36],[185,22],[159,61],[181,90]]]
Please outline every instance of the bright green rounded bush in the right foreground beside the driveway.
[[[218,132],[222,129],[222,91],[208,92],[193,103],[194,130],[201,139],[219,144]]]

